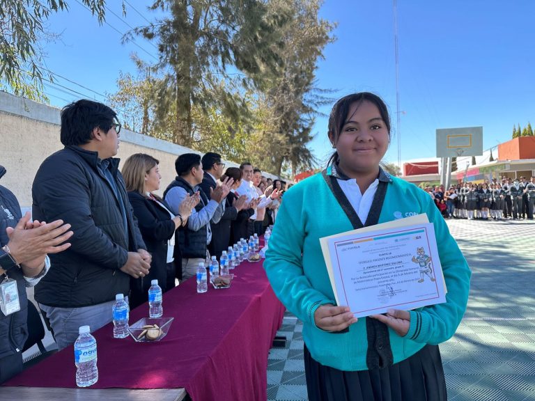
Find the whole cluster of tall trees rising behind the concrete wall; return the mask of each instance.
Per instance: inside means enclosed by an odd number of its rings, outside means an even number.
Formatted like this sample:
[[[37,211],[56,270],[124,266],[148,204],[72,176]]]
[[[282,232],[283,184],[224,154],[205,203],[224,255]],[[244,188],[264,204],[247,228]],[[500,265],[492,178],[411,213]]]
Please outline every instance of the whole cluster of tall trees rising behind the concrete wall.
[[[125,40],[157,40],[160,61],[143,65],[136,79],[121,75],[111,103],[131,115],[121,118],[132,127],[146,110],[152,136],[279,175],[309,169],[311,127],[318,107],[330,102],[314,86],[333,29],[318,19],[319,7],[318,0],[155,1],[166,17]]]

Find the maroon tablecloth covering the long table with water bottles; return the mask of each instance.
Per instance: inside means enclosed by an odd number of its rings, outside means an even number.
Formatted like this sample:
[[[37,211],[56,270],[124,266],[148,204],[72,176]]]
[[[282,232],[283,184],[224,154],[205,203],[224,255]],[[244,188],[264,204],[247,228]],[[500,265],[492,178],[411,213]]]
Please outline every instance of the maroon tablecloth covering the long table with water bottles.
[[[196,293],[195,279],[164,294],[175,317],[159,343],[114,339],[112,325],[94,333],[98,382],[92,388],[180,388],[192,400],[265,400],[267,353],[284,315],[261,262],[233,270],[231,288]],[[111,310],[110,310],[111,313]],[[148,317],[148,304],[130,323]],[[76,387],[72,345],[25,370],[6,386]]]

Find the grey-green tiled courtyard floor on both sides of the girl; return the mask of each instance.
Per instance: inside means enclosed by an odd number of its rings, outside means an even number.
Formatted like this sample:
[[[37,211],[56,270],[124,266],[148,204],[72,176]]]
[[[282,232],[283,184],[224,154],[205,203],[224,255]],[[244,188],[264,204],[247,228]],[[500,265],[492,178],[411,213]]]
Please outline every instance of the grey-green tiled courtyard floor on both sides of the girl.
[[[450,401],[535,400],[535,224],[447,220],[472,269],[465,317],[440,345]],[[267,365],[269,401],[307,400],[302,322],[286,313]]]

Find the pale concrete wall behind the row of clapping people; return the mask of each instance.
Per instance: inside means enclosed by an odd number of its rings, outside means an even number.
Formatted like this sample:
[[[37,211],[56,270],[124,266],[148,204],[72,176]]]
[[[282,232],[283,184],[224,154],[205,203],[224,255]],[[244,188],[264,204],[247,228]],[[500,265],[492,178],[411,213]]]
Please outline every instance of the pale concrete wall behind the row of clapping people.
[[[0,164],[7,173],[0,184],[17,196],[23,210],[31,207],[31,184],[42,161],[63,148],[59,141],[60,109],[0,91]],[[196,152],[184,146],[121,129],[117,157],[148,153],[160,160],[160,194],[175,177],[177,155]],[[215,149],[217,152],[217,149]],[[196,152],[199,153],[199,152]],[[238,164],[225,161],[226,167]],[[276,178],[274,175],[264,175]]]

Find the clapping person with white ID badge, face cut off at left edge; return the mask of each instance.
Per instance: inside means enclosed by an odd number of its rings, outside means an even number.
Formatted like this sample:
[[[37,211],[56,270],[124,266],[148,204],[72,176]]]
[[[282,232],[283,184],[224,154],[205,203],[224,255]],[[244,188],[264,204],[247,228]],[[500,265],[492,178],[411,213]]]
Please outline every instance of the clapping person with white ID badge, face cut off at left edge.
[[[5,173],[0,166],[0,178]],[[47,274],[47,253],[70,246],[64,243],[72,235],[69,228],[61,220],[31,221],[29,212],[22,217],[13,192],[0,185],[0,384],[22,371],[28,337],[26,287]]]

